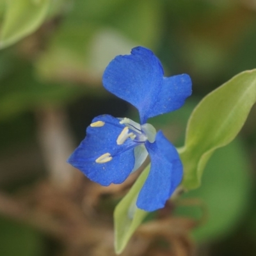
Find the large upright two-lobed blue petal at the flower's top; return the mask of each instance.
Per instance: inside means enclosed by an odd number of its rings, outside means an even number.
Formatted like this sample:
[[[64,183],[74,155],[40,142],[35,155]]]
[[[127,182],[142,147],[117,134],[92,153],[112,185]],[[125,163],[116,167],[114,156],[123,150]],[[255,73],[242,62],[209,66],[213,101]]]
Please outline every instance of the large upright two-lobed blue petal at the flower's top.
[[[163,74],[153,52],[136,47],[130,55],[116,56],[109,63],[102,82],[106,90],[135,106],[145,124],[147,118],[180,108],[191,95],[188,75],[167,78]]]

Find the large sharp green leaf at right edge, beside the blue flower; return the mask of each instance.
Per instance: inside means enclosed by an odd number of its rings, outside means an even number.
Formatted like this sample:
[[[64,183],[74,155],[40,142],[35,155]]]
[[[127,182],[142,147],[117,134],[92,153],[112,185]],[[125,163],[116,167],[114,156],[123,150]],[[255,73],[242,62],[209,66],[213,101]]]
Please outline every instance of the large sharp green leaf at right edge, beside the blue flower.
[[[245,71],[209,93],[194,109],[188,122],[182,185],[200,186],[205,164],[216,148],[236,137],[256,101],[256,70]]]

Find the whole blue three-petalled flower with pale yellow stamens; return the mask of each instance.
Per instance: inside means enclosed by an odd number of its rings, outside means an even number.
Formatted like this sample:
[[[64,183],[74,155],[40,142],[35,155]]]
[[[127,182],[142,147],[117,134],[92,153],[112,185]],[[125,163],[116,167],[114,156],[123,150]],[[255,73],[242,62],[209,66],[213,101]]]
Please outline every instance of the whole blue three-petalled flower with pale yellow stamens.
[[[136,202],[145,211],[164,207],[182,180],[176,148],[147,120],[179,109],[191,95],[191,79],[187,74],[163,75],[158,58],[144,47],[132,49],[130,55],[116,56],[104,71],[103,85],[138,109],[140,124],[129,118],[97,116],[68,159],[89,179],[108,186],[124,182],[149,154],[150,172]]]

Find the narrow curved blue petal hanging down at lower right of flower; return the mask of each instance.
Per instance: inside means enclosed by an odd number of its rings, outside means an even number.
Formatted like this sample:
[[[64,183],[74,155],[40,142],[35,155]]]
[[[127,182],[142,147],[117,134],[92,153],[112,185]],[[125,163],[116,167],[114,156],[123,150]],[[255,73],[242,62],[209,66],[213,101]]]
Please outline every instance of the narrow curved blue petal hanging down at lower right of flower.
[[[136,205],[145,211],[155,211],[164,207],[166,200],[180,184],[182,163],[176,148],[161,131],[157,132],[154,143],[146,143],[146,148],[151,158],[151,167]]]

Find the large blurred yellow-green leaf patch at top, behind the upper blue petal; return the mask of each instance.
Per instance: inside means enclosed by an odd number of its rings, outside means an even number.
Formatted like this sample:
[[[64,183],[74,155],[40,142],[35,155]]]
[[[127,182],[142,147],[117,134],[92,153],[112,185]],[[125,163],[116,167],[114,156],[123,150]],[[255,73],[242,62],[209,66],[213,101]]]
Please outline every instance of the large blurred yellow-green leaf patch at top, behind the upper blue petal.
[[[38,74],[49,80],[100,84],[104,68],[116,55],[138,45],[156,45],[159,6],[153,0],[77,1],[36,63]]]

